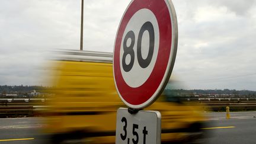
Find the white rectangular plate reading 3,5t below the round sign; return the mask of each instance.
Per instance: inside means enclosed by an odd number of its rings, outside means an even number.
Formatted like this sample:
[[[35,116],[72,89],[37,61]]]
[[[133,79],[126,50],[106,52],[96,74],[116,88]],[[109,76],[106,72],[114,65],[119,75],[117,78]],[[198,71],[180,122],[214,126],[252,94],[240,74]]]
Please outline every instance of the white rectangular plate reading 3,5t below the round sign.
[[[140,110],[130,114],[128,108],[117,110],[116,144],[160,144],[161,113]]]

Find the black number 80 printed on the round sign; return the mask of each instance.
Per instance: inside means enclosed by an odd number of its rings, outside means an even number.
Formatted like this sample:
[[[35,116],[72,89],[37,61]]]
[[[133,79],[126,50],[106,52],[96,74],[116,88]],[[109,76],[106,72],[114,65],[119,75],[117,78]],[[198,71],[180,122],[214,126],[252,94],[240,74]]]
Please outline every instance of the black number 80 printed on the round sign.
[[[146,59],[143,59],[142,36],[145,31],[148,31],[149,33],[149,53]],[[132,40],[130,46],[127,46],[128,39]],[[122,64],[123,64],[123,70],[125,72],[129,72],[133,68],[133,64],[135,61],[135,51],[133,50],[134,46],[135,46],[135,33],[133,31],[129,31],[124,37],[124,42],[123,42],[124,53],[122,58]],[[137,39],[137,59],[141,68],[147,68],[151,63],[154,47],[155,47],[155,32],[154,32],[152,23],[147,21],[140,28],[139,36]],[[130,63],[128,65],[126,64],[127,55],[130,55],[130,58],[131,58]]]

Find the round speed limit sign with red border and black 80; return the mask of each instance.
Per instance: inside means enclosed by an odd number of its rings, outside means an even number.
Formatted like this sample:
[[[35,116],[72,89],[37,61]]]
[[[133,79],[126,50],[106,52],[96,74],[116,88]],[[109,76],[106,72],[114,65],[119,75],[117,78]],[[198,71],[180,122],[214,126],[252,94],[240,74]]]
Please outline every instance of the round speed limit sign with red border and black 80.
[[[174,66],[177,17],[168,0],[133,0],[117,31],[113,71],[117,92],[131,108],[145,108],[161,94]]]

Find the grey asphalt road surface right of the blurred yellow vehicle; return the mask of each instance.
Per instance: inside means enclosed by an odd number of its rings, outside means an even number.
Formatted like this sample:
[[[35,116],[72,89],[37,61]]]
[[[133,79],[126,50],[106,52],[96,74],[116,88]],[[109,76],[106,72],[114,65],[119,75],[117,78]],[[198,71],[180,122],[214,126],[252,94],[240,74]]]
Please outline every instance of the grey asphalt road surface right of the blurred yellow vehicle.
[[[206,143],[256,143],[256,111],[231,113],[231,119],[226,119],[226,113],[207,115],[212,129],[207,129],[210,137]]]

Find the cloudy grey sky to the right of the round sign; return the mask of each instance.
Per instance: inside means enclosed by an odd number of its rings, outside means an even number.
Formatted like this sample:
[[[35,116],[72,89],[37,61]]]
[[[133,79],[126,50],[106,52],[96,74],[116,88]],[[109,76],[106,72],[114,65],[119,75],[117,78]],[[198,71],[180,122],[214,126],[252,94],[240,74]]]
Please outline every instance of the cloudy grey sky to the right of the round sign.
[[[255,5],[241,2],[239,9],[227,1],[174,1],[180,32],[174,73],[190,88],[255,89],[251,81],[256,75],[247,76],[256,71]],[[212,12],[222,7],[228,11],[198,20],[199,9],[209,12],[206,7]]]

